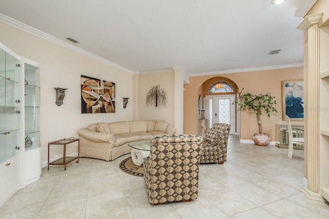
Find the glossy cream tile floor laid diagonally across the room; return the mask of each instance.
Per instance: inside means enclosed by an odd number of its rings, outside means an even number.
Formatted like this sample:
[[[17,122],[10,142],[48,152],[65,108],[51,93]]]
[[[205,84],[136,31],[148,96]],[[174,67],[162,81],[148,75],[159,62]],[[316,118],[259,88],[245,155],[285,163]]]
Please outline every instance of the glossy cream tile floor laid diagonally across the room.
[[[224,165],[200,165],[192,202],[150,205],[143,177],[119,169],[129,154],[106,162],[81,158],[66,171],[42,169],[16,192],[0,218],[329,218],[329,204],[301,192],[304,151],[240,144],[231,135]]]

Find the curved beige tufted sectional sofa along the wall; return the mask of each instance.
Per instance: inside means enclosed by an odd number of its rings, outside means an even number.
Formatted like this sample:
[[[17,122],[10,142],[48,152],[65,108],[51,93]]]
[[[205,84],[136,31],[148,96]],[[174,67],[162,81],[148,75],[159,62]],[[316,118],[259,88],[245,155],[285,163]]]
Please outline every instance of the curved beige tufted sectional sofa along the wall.
[[[176,129],[162,120],[95,123],[78,130],[80,156],[113,161],[131,152],[127,143],[172,135]]]

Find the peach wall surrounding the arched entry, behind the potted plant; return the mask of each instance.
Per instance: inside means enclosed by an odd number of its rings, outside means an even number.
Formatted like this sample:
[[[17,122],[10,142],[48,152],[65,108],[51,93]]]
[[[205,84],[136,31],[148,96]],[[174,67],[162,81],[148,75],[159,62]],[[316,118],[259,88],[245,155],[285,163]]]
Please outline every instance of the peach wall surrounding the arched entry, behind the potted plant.
[[[282,81],[292,79],[303,79],[303,67],[284,68],[264,71],[239,72],[221,75],[206,75],[190,77],[190,83],[184,85],[184,133],[197,134],[198,118],[197,106],[198,94],[200,86],[203,85],[209,78],[226,77],[231,79],[241,90],[252,94],[260,94],[270,92],[276,96],[278,110],[277,116],[273,115],[268,118],[266,115],[261,117],[263,131],[267,132],[272,141],[275,141],[276,124],[285,124],[282,120]],[[207,95],[203,93],[203,95]],[[293,124],[303,124],[303,121],[292,121]],[[254,112],[241,112],[241,139],[252,140],[252,136],[258,132],[257,118]]]

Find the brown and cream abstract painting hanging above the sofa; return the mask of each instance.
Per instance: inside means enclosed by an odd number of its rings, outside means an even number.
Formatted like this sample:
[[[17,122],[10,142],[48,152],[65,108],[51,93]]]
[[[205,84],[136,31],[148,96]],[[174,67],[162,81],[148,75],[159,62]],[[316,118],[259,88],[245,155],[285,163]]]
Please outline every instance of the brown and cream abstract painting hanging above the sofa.
[[[115,83],[81,75],[81,113],[115,112]]]

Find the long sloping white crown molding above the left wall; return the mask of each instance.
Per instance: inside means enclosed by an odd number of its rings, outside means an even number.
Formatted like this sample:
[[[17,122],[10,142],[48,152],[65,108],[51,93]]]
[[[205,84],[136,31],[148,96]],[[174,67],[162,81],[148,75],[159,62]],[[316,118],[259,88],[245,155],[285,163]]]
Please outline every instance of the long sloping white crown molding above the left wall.
[[[85,56],[87,56],[89,58],[93,58],[93,59],[95,59],[98,62],[101,62],[101,63],[104,63],[106,65],[112,66],[112,67],[114,67],[116,69],[119,69],[121,71],[124,71],[126,73],[133,74],[133,71],[131,71],[129,69],[126,69],[126,68],[124,68],[124,67],[122,67],[122,66],[120,66],[118,64],[115,64],[115,63],[113,63],[111,61],[108,61],[107,59],[102,58],[102,57],[100,57],[98,55],[95,55],[93,53],[90,53],[90,52],[87,52],[87,51],[85,51],[83,49],[80,49],[80,48],[78,48],[78,47],[76,47],[74,45],[71,45],[69,43],[66,43],[66,42],[62,41],[61,39],[58,39],[58,38],[56,38],[54,36],[51,36],[51,35],[49,35],[49,34],[47,34],[45,32],[42,32],[42,31],[40,31],[38,29],[35,29],[35,28],[30,27],[30,26],[28,26],[26,24],[23,24],[22,22],[16,21],[15,19],[13,19],[11,17],[8,17],[8,16],[6,16],[6,15],[4,15],[2,13],[0,13],[0,21],[3,22],[3,23],[6,23],[8,25],[11,25],[13,27],[16,27],[16,28],[19,28],[21,30],[24,30],[24,31],[26,31],[28,33],[31,33],[31,34],[33,34],[35,36],[39,36],[39,37],[41,37],[43,39],[46,39],[47,41],[50,41],[52,43],[55,43],[55,44],[60,45],[62,47],[65,47],[66,49],[69,49],[69,50],[72,50],[74,52],[80,53],[80,54],[85,55]]]

